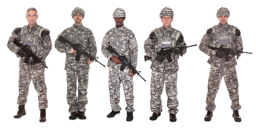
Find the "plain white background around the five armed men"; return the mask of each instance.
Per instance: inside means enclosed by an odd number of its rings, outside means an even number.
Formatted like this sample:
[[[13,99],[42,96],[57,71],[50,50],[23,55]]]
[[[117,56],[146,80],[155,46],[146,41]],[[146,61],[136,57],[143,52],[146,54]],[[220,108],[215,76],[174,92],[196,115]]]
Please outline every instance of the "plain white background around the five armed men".
[[[46,58],[45,80],[47,85],[48,109],[46,122],[39,122],[37,92],[32,82],[26,103],[27,115],[20,119],[13,116],[18,111],[18,62],[19,58],[7,48],[8,38],[15,27],[23,27],[28,22],[25,12],[29,7],[35,7],[39,12],[37,23],[50,30],[53,48]],[[92,30],[99,56],[98,61],[107,65],[107,58],[101,52],[101,42],[107,31],[115,27],[112,17],[113,11],[120,7],[126,12],[124,26],[131,29],[138,41],[139,58],[137,70],[146,79],[144,82],[139,76],[134,76],[134,120],[126,122],[124,92],[121,87],[121,115],[109,119],[111,112],[108,90],[108,68],[94,62],[89,71],[88,104],[85,120],[69,120],[68,104],[66,100],[67,81],[64,70],[65,54],[54,48],[57,35],[64,29],[71,27],[74,20],[71,12],[75,7],[85,10],[82,24]],[[188,48],[187,53],[178,61],[178,101],[179,112],[177,122],[169,121],[167,112],[167,97],[165,90],[162,94],[163,112],[156,121],[150,121],[150,76],[151,62],[144,61],[144,41],[150,32],[161,27],[160,10],[170,7],[174,11],[172,27],[182,32],[187,45],[198,46]],[[238,27],[243,39],[244,51],[253,54],[242,54],[237,60],[240,104],[239,114],[242,122],[235,122],[232,118],[231,100],[227,88],[222,80],[215,103],[211,122],[205,122],[207,83],[210,64],[208,56],[199,51],[199,44],[206,30],[216,24],[217,10],[227,7],[230,11],[228,23]],[[132,128],[255,128],[252,126],[255,119],[255,6],[252,0],[6,0],[1,2],[1,90],[0,90],[0,122],[8,125],[6,128],[33,128],[45,129],[60,128],[87,128],[87,129],[132,129]],[[1,127],[1,128],[2,128]],[[4,128],[2,128],[4,129]]]

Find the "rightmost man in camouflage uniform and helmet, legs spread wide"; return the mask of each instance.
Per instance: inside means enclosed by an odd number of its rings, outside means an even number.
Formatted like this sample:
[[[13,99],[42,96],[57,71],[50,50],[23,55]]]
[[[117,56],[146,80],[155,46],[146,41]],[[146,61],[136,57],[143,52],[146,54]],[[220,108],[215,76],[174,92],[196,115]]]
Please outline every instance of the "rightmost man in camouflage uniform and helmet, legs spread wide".
[[[229,10],[221,7],[216,15],[220,23],[206,31],[199,45],[200,51],[210,56],[207,62],[211,64],[206,96],[207,114],[204,118],[205,121],[210,121],[213,117],[213,111],[216,108],[214,100],[220,87],[221,78],[224,76],[229,97],[232,101],[233,117],[236,122],[241,122],[241,117],[238,114],[241,105],[239,104],[238,79],[235,70],[235,65],[237,64],[235,50],[243,48],[242,37],[237,27],[228,24],[229,15]],[[208,47],[220,48],[222,45],[232,49],[228,55],[229,61],[225,61],[224,52],[212,50]]]

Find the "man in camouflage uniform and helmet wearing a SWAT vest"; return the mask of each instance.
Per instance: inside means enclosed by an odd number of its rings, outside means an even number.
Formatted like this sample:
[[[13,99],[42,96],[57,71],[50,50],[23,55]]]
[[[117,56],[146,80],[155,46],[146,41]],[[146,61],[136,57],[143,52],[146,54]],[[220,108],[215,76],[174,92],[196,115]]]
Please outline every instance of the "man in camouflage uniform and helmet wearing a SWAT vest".
[[[165,82],[170,121],[175,122],[177,120],[176,114],[178,113],[177,60],[181,51],[183,54],[186,53],[186,49],[179,50],[177,47],[186,46],[186,44],[181,32],[171,27],[171,22],[173,21],[172,9],[165,7],[160,12],[160,18],[163,22],[163,27],[153,30],[144,44],[147,56],[152,58],[152,64],[150,66],[152,69],[150,83],[150,109],[151,112],[153,112],[153,115],[151,115],[149,119],[156,120],[157,117],[161,115],[161,94],[163,92]],[[165,49],[168,50],[170,48],[174,48],[174,52],[171,52],[171,57],[159,53],[160,51],[164,51]]]

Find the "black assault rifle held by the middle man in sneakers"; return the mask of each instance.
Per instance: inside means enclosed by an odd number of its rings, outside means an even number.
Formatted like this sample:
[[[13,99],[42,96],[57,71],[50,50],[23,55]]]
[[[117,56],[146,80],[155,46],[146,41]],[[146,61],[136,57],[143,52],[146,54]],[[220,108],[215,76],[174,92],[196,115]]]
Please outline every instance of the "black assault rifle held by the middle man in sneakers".
[[[128,66],[135,74],[139,75],[140,71],[137,71],[131,64],[131,61],[128,60],[128,58],[126,56],[120,56],[117,51],[115,51],[111,46],[108,46],[107,48],[108,51],[110,51],[110,53],[114,53],[118,56],[119,60],[122,62],[121,71],[124,71],[124,68],[126,66]],[[142,76],[139,75],[141,78]],[[142,78],[144,81],[146,81],[144,78]]]

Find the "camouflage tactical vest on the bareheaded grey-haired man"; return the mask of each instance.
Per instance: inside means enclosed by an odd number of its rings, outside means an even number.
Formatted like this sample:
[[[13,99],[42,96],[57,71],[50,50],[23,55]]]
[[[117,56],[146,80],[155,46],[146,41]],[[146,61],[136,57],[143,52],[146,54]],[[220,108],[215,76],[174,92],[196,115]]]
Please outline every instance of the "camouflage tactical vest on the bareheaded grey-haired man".
[[[28,45],[32,52],[38,55],[43,50],[43,44],[38,43],[38,38],[40,38],[41,32],[43,31],[43,27],[38,26],[34,33],[30,31],[28,26],[24,26],[21,28],[21,43],[25,46]]]

